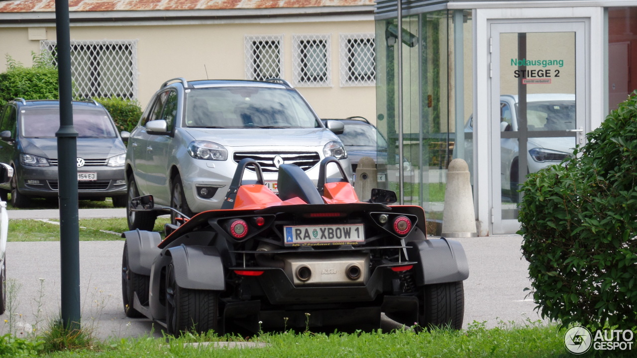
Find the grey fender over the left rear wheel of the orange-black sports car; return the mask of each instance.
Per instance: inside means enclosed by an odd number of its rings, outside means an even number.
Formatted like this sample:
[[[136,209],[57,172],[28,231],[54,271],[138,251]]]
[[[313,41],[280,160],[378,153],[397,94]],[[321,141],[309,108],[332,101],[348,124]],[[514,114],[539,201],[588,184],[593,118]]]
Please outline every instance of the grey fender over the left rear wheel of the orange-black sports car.
[[[193,290],[225,290],[224,265],[219,250],[211,246],[171,247],[175,281],[179,287]]]

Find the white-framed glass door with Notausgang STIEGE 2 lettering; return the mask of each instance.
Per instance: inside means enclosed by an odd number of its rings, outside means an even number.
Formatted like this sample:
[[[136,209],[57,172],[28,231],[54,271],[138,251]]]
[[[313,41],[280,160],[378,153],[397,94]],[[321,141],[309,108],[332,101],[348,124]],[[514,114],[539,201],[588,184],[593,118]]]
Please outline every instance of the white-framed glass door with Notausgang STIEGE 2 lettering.
[[[491,24],[492,233],[519,229],[528,173],[558,164],[585,138],[583,22]]]

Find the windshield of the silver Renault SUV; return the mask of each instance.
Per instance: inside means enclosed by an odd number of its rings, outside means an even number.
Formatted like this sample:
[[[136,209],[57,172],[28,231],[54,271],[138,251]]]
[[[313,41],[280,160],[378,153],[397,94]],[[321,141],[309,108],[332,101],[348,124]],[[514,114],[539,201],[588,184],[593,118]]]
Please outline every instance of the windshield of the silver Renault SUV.
[[[294,91],[269,87],[193,89],[186,125],[213,128],[316,128],[318,119]]]

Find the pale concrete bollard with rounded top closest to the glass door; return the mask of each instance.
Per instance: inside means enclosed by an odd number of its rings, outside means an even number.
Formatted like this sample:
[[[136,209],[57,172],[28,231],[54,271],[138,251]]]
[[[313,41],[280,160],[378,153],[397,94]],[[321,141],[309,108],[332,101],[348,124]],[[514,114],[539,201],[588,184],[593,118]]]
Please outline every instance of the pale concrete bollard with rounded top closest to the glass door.
[[[454,159],[449,163],[447,171],[441,236],[471,238],[478,236],[476,233],[469,166],[463,159]]]

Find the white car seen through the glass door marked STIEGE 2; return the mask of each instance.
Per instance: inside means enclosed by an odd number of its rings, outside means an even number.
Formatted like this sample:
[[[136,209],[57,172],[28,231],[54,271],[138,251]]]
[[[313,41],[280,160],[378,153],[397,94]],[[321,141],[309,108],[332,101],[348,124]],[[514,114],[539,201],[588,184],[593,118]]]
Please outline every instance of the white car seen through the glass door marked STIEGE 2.
[[[517,132],[518,96],[505,94],[500,96],[500,132]],[[527,130],[536,131],[569,131],[575,129],[575,94],[528,94],[527,95]],[[473,116],[469,118],[464,129],[473,132]],[[559,134],[558,134],[559,135]],[[500,175],[503,192],[510,193],[514,203],[519,201],[519,140],[506,138],[502,134],[500,140]],[[469,159],[473,158],[473,146],[467,146]],[[531,136],[527,140],[527,173],[535,173],[552,164],[559,164],[573,154],[575,137]],[[472,161],[468,161],[469,170],[473,170]],[[527,173],[523,173],[526,175]]]

